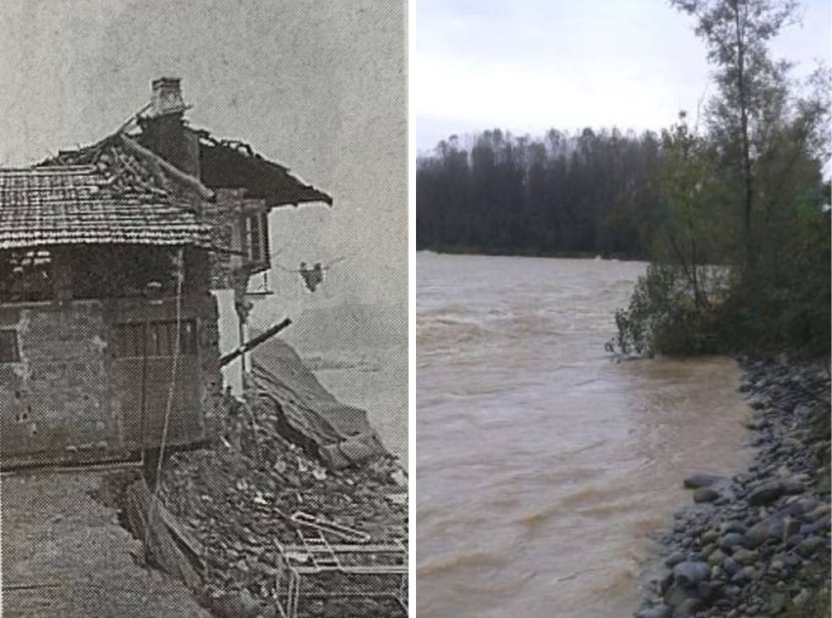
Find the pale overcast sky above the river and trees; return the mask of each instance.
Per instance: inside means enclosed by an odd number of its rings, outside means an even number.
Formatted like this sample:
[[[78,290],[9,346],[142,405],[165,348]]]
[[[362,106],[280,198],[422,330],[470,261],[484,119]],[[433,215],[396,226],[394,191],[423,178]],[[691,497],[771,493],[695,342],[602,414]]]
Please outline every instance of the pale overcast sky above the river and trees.
[[[829,63],[830,0],[803,3],[803,25],[775,54],[808,72]],[[412,105],[417,148],[500,126],[658,130],[709,88],[694,22],[666,0],[419,0]],[[712,87],[710,92],[712,92]]]

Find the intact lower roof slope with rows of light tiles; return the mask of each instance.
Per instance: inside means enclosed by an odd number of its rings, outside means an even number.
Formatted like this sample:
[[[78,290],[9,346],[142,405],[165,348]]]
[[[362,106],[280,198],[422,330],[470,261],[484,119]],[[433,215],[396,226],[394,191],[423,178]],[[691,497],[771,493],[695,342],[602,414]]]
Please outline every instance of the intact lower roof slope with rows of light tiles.
[[[106,166],[0,169],[0,250],[201,244],[208,230],[164,190]]]

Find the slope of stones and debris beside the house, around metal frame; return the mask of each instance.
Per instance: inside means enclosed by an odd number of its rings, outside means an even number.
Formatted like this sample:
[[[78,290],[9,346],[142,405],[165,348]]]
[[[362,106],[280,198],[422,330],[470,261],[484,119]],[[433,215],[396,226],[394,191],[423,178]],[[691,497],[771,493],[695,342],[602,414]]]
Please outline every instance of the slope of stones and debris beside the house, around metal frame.
[[[371,543],[398,540],[407,546],[406,479],[394,457],[327,469],[281,435],[280,410],[251,394],[250,403],[229,403],[211,447],[174,454],[159,486],[161,501],[196,544],[204,601],[218,615],[275,615],[275,540],[299,541],[290,520],[296,512],[363,531]],[[324,578],[322,586],[337,590],[339,582]],[[399,614],[393,601],[361,599],[310,601],[301,611],[302,616]]]

